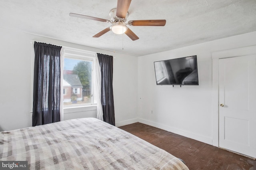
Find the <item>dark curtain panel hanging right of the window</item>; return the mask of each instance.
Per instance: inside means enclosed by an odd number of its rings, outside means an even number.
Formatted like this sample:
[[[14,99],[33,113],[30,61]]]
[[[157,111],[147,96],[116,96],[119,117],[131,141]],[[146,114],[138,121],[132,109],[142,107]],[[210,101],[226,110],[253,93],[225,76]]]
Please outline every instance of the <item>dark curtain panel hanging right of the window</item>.
[[[101,104],[103,120],[115,126],[113,97],[113,56],[97,53],[101,70]]]

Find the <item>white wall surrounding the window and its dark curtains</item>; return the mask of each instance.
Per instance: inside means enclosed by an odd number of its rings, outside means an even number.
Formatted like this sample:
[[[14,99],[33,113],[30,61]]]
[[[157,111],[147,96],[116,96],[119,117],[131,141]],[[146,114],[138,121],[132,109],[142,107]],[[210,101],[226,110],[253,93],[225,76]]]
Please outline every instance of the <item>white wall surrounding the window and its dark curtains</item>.
[[[123,125],[138,120],[137,57],[2,28],[0,37],[0,131],[32,125],[32,40],[113,55],[116,124]],[[64,120],[80,117],[96,117],[96,110],[64,114]]]

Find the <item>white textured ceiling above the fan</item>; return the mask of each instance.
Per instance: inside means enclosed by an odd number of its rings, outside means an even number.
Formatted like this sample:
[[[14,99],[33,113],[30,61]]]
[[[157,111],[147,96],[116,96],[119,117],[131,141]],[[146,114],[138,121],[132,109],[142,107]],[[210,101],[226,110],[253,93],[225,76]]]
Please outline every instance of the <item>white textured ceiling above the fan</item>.
[[[256,31],[256,0],[132,0],[127,20],[165,19],[164,27],[128,26],[140,39],[108,32],[117,0],[0,0],[0,27],[142,56]]]

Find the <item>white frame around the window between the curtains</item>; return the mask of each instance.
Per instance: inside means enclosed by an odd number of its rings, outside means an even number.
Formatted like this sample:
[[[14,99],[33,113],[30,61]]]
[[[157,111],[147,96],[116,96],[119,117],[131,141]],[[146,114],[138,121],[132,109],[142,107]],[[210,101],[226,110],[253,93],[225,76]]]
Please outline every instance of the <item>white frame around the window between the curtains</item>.
[[[65,58],[69,58],[69,59],[77,59],[77,60],[82,60],[82,61],[89,61],[92,62],[92,87],[91,87],[91,103],[85,103],[85,104],[79,104],[76,106],[67,106],[64,107],[63,105],[63,109],[64,109],[64,113],[72,113],[75,112],[73,110],[77,110],[77,109],[81,109],[81,108],[85,108],[85,107],[95,107],[97,105],[96,101],[94,100],[94,81],[96,80],[96,78],[94,77],[94,68],[95,68],[95,57],[96,57],[96,53],[90,52],[90,51],[85,51],[85,50],[81,50],[81,49],[71,49],[71,48],[64,48],[63,49],[63,55],[62,55],[62,68],[61,68],[61,73],[62,73],[62,80],[63,80],[63,75],[64,75],[64,59]],[[63,89],[63,84],[62,87]],[[78,90],[78,88],[77,88]],[[80,90],[80,88],[79,88]],[[62,101],[63,103],[63,101]]]

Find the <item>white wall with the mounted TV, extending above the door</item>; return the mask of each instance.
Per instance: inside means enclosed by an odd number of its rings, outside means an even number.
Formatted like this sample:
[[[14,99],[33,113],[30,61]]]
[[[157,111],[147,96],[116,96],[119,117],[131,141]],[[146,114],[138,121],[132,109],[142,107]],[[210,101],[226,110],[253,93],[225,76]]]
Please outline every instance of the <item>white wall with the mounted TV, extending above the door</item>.
[[[256,32],[138,59],[139,122],[212,144],[212,52],[256,45]],[[156,85],[154,61],[197,55],[199,86]],[[153,114],[151,114],[153,111]]]

